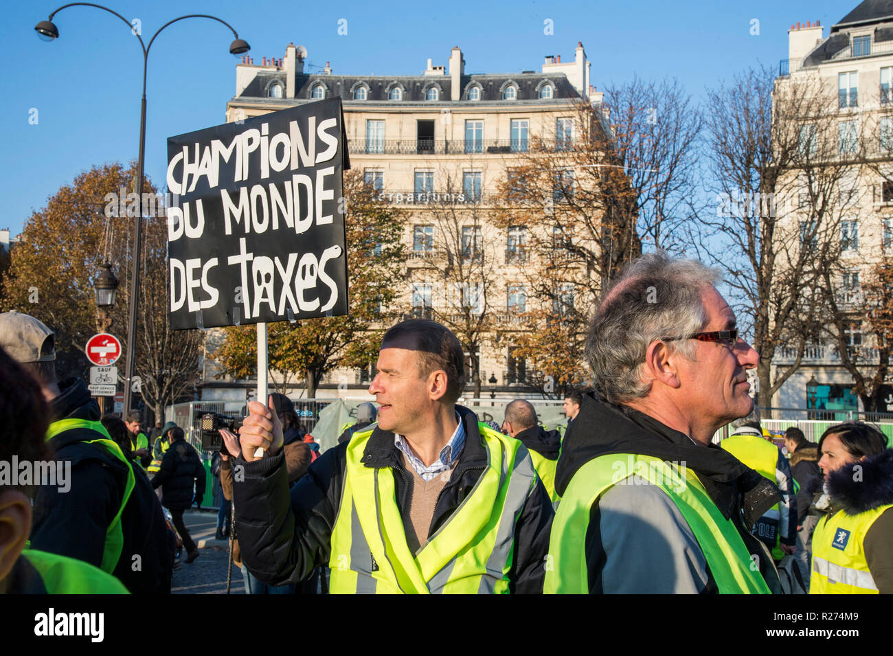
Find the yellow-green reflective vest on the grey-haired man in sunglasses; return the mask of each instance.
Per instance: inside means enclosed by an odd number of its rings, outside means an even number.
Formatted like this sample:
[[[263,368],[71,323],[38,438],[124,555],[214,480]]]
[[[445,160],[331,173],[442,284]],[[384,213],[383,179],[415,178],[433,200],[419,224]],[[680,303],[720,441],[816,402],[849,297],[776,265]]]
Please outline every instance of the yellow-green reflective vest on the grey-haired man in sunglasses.
[[[722,517],[694,472],[630,453],[600,456],[573,475],[552,523],[549,554],[553,560],[547,563],[546,594],[588,594],[585,537],[589,511],[602,494],[633,474],[663,490],[679,509],[704,552],[721,594],[769,594],[759,571],[751,569],[750,554],[735,525]]]

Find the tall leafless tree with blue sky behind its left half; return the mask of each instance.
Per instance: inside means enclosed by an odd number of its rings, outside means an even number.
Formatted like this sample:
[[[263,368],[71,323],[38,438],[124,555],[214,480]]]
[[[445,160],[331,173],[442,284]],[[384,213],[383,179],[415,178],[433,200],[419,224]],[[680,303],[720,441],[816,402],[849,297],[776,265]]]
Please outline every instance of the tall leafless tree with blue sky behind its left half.
[[[758,403],[800,366],[821,332],[821,271],[839,262],[852,208],[857,135],[838,124],[835,89],[812,74],[755,68],[707,90],[706,155],[717,200],[701,212],[701,256],[725,273],[760,360]],[[781,351],[784,353],[781,353]],[[776,368],[777,354],[787,356]]]

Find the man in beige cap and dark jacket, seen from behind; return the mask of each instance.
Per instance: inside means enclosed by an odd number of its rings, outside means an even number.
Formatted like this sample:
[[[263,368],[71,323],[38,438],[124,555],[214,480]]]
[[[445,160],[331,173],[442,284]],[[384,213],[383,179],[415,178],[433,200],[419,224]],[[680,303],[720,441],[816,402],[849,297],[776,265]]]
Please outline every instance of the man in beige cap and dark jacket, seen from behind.
[[[0,346],[37,380],[52,421],[47,447],[71,470],[67,490],[38,487],[30,547],[95,565],[131,593],[169,593],[161,505],[100,422],[84,381],[56,377],[54,338],[34,317],[0,314]]]

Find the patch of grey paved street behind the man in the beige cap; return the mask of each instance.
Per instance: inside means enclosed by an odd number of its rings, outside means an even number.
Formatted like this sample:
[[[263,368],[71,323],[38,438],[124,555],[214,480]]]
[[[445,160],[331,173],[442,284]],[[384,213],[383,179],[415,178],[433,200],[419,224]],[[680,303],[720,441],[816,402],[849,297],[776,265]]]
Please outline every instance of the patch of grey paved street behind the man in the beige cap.
[[[173,594],[226,594],[226,564],[229,542],[215,540],[217,513],[214,511],[189,511],[183,515],[189,535],[198,544],[201,555],[186,563],[186,553],[175,569],[171,581]],[[242,573],[232,566],[230,594],[244,594]]]

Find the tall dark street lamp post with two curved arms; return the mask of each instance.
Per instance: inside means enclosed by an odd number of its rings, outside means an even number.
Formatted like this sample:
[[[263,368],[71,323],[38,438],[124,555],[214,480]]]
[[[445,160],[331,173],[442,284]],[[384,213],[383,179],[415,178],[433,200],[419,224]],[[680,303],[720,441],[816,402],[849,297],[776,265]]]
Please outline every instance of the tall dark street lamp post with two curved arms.
[[[212,21],[217,21],[226,25],[230,30],[232,30],[233,36],[236,37],[232,43],[230,43],[230,54],[238,55],[248,52],[251,49],[251,46],[248,46],[247,42],[238,37],[238,32],[232,28],[230,23],[227,21],[223,21],[216,16],[211,16],[206,13],[190,13],[186,16],[180,16],[179,18],[175,18],[172,21],[168,21],[162,25],[155,33],[152,35],[152,38],[149,39],[149,45],[143,42],[143,37],[139,35],[138,32],[133,32],[133,26],[130,24],[126,18],[121,16],[120,13],[114,12],[108,7],[104,7],[101,4],[93,4],[93,3],[71,3],[71,4],[63,4],[63,6],[56,9],[49,15],[49,18],[46,21],[40,21],[34,27],[35,31],[38,33],[38,36],[45,41],[52,41],[55,38],[59,37],[59,29],[53,23],[53,17],[58,12],[61,12],[63,9],[67,7],[73,6],[87,6],[87,7],[96,7],[96,9],[102,9],[104,12],[112,13],[124,21],[127,25],[127,28],[131,30],[131,33],[134,34],[139,39],[139,46],[143,49],[143,98],[139,108],[139,158],[137,163],[138,174],[137,174],[137,188],[136,192],[138,194],[138,198],[140,199],[140,212],[138,212],[137,216],[133,219],[133,230],[134,230],[134,238],[133,238],[133,255],[132,262],[130,264],[130,299],[129,299],[129,319],[128,319],[128,327],[127,327],[127,361],[125,363],[125,373],[124,373],[124,417],[127,417],[128,412],[130,411],[130,390],[127,386],[130,385],[130,380],[133,378],[133,370],[134,370],[134,359],[137,353],[137,294],[139,289],[139,247],[140,247],[140,239],[142,237],[142,198],[143,198],[143,182],[145,179],[144,175],[144,156],[146,154],[146,67],[149,61],[149,49],[152,47],[154,43],[155,37],[157,37],[164,28],[171,25],[171,23],[175,23],[177,21],[183,21],[188,18],[209,18]]]

